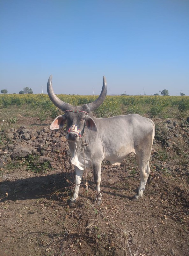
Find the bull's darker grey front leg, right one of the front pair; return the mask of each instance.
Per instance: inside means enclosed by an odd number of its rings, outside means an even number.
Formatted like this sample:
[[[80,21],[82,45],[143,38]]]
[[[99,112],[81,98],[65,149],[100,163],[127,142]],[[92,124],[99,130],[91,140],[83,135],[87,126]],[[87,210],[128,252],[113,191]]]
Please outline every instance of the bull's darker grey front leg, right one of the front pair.
[[[93,169],[93,178],[94,183],[96,185],[97,189],[97,196],[95,198],[95,203],[97,203],[97,206],[101,203],[102,194],[100,193],[100,181],[101,181],[101,162],[100,163],[92,163],[92,169]]]

